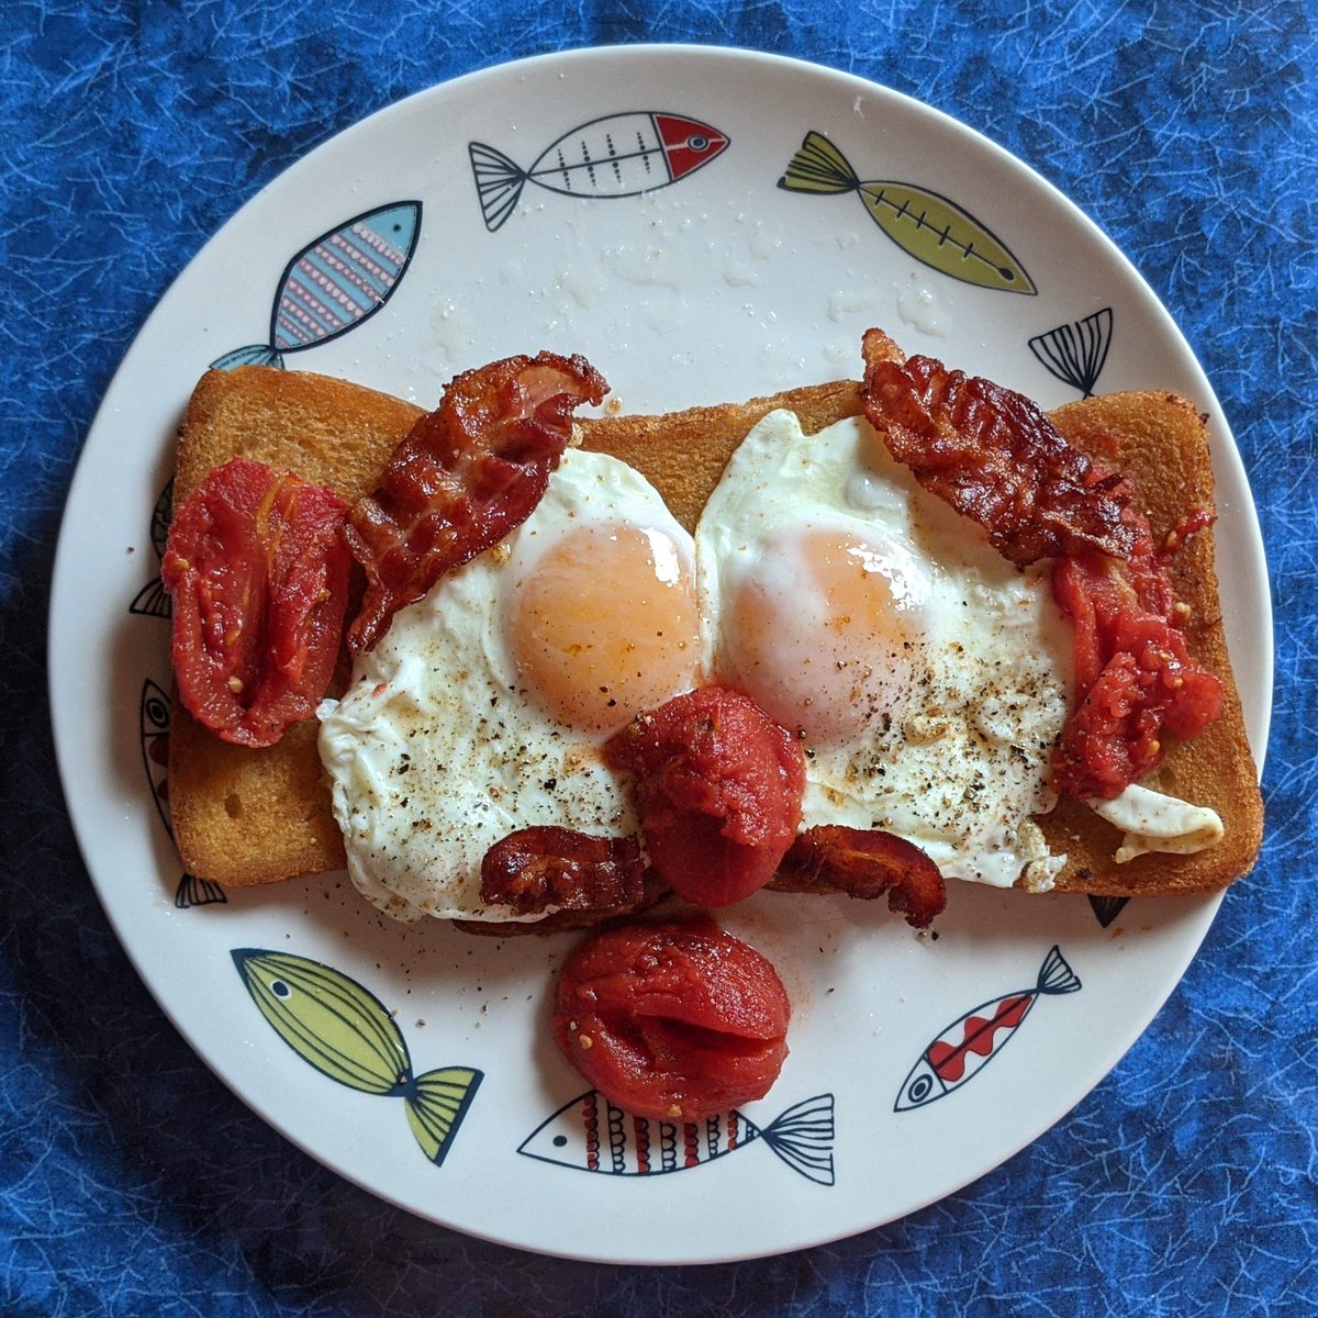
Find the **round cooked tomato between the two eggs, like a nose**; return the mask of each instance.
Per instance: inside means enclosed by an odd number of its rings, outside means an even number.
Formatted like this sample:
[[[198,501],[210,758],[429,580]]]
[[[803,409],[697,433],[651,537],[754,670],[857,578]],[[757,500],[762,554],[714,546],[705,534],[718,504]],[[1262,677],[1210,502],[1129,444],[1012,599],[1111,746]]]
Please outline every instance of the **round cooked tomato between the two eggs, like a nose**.
[[[605,758],[635,775],[659,876],[699,905],[762,888],[801,822],[800,745],[730,687],[701,687],[642,714],[609,739]]]

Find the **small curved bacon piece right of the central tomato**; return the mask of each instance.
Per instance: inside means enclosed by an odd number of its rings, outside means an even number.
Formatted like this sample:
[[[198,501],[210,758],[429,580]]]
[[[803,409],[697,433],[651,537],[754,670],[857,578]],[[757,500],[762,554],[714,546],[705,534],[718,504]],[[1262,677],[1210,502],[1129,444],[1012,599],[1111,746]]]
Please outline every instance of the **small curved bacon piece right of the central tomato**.
[[[938,867],[920,850],[879,829],[821,824],[792,844],[778,875],[775,892],[845,892],[874,900],[888,895],[888,909],[924,929],[948,904]]]

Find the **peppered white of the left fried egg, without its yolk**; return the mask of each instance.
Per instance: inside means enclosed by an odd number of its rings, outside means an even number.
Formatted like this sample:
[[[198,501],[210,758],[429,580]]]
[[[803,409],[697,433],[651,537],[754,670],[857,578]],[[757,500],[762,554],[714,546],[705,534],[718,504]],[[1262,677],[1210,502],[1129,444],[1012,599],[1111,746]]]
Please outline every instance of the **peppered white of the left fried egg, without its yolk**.
[[[538,558],[589,522],[667,538],[691,571],[691,536],[654,488],[613,457],[572,449],[505,544],[401,609],[358,656],[343,700],[322,704],[348,873],[386,915],[536,920],[481,902],[490,846],[532,825],[638,832],[629,787],[601,758],[608,734],[546,714],[519,683],[506,634],[509,601]]]

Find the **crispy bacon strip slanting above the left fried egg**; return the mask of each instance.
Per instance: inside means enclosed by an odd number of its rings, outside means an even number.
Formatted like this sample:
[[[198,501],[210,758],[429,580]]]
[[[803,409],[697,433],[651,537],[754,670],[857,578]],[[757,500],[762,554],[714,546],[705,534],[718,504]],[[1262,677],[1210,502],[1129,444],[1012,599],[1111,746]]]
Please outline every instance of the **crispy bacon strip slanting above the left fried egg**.
[[[609,391],[585,357],[506,357],[460,374],[394,449],[344,527],[366,571],[348,631],[369,650],[394,613],[530,517],[572,435],[572,411]]]

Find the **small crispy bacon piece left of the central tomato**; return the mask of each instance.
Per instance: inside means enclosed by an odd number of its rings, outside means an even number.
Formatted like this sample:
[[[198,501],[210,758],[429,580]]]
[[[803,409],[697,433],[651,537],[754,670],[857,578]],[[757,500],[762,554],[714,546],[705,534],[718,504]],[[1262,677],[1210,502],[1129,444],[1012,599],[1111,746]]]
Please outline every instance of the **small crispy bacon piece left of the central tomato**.
[[[523,828],[481,862],[481,900],[518,915],[547,907],[621,912],[646,899],[646,866],[635,837],[592,837],[567,828]]]

